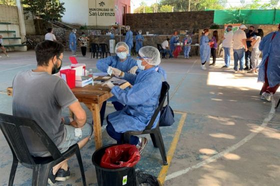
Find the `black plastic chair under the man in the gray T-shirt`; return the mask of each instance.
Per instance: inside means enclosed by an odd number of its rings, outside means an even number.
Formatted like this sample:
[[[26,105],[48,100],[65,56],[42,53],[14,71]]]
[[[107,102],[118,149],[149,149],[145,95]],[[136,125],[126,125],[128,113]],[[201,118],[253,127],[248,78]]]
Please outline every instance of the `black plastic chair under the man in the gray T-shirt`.
[[[13,160],[9,175],[8,186],[12,186],[18,162],[24,167],[32,169],[32,186],[46,186],[50,169],[76,154],[83,186],[86,186],[85,176],[77,144],[71,146],[66,152],[60,153],[51,139],[36,124],[33,119],[20,118],[5,114],[0,114],[0,129],[10,147]],[[33,157],[30,155],[28,147],[23,138],[22,131],[36,135],[38,140],[45,146],[51,156]]]

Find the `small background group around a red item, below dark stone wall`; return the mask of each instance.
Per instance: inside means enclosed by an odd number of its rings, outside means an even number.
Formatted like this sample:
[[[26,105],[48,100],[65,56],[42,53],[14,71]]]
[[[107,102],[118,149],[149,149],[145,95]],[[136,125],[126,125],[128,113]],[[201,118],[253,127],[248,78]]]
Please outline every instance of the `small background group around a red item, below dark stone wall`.
[[[163,50],[162,58],[164,58],[167,53],[169,54],[169,58],[173,58],[174,56],[177,57],[179,52],[181,51],[181,46],[176,47],[176,43],[179,43],[179,42],[180,42],[179,36],[177,36],[177,35],[173,35],[171,37],[171,39],[166,38],[166,40],[164,40],[161,43],[161,47]],[[184,58],[189,59],[189,52],[191,49],[190,45],[192,43],[191,36],[185,35],[185,37],[182,39],[182,43],[183,43]]]

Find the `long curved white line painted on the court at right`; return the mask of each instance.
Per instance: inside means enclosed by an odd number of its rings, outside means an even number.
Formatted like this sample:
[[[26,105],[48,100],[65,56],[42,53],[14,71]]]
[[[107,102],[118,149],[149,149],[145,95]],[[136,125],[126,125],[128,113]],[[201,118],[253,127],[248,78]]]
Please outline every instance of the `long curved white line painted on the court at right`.
[[[224,150],[224,151],[222,151],[222,152],[220,152],[220,153],[218,153],[218,154],[216,154],[216,155],[214,155],[214,156],[212,156],[212,157],[210,157],[210,158],[208,158],[208,159],[206,159],[206,160],[204,160],[204,161],[202,161],[202,162],[200,162],[200,163],[198,163],[198,164],[196,164],[194,166],[188,167],[186,169],[183,169],[181,171],[177,171],[177,172],[174,172],[174,173],[168,175],[166,177],[165,181],[171,180],[173,178],[176,178],[176,177],[179,177],[179,176],[181,176],[183,174],[186,174],[187,172],[189,172],[192,169],[198,169],[198,168],[200,168],[200,167],[202,167],[202,166],[204,166],[206,164],[209,164],[209,163],[211,163],[211,162],[213,162],[213,161],[223,157],[227,153],[236,150],[237,148],[239,148],[240,146],[244,145],[246,142],[251,140],[253,137],[255,137],[259,132],[261,132],[267,126],[268,122],[273,118],[274,114],[275,114],[275,100],[272,97],[271,98],[271,109],[270,109],[270,111],[268,113],[268,116],[266,118],[264,118],[262,124],[254,132],[250,133],[248,136],[246,136],[244,139],[242,139],[241,141],[239,141],[235,145],[233,145],[231,147],[228,147],[226,150]]]

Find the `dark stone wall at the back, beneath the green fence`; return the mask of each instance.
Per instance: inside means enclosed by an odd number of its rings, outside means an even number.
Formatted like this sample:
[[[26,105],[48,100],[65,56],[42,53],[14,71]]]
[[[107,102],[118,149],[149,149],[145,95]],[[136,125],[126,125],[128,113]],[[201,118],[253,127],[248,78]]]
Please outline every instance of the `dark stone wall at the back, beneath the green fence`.
[[[213,24],[214,11],[185,11],[165,13],[127,13],[126,25],[133,32],[139,29],[143,33],[168,35],[174,31],[188,30],[188,33],[198,32]]]

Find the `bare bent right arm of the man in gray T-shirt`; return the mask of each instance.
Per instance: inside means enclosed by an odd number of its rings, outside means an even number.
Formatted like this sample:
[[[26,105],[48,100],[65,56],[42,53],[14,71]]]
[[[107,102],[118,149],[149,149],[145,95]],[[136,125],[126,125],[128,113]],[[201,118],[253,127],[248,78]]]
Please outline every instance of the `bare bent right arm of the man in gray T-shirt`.
[[[83,108],[81,108],[79,102],[76,101],[72,103],[68,108],[75,116],[75,119],[71,122],[71,125],[76,128],[83,127],[86,122],[86,114]]]

